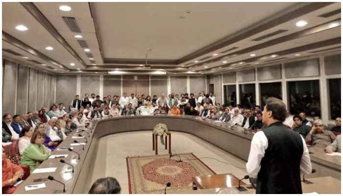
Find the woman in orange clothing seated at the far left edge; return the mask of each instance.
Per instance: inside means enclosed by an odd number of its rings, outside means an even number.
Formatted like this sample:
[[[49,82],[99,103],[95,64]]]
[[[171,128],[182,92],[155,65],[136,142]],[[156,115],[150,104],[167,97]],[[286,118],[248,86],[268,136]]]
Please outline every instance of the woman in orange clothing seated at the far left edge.
[[[12,194],[18,179],[24,176],[24,170],[6,158],[6,150],[2,146],[2,194]]]

